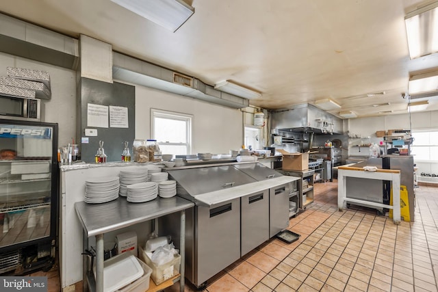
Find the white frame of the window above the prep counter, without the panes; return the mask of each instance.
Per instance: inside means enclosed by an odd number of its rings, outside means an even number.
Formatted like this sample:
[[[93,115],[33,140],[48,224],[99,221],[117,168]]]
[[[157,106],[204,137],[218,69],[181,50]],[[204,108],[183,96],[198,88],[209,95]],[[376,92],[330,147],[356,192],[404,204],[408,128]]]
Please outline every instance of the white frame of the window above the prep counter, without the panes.
[[[157,141],[160,145],[173,145],[173,146],[185,146],[187,148],[187,154],[192,154],[192,122],[193,115],[182,114],[175,111],[165,111],[163,109],[151,109],[151,134],[155,139],[155,118],[166,118],[169,120],[181,120],[186,124],[187,143]]]

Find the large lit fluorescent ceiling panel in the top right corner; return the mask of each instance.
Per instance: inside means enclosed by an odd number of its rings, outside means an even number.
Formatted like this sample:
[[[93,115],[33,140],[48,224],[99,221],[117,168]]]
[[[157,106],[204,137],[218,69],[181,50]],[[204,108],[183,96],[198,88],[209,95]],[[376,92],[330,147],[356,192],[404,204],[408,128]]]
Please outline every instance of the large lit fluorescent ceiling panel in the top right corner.
[[[411,59],[438,52],[438,2],[404,17]]]

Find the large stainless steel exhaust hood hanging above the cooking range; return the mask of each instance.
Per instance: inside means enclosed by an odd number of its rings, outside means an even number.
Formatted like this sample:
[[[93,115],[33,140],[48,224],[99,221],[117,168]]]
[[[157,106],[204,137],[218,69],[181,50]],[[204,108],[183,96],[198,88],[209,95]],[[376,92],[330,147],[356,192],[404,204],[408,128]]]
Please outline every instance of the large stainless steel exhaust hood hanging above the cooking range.
[[[295,133],[342,134],[344,122],[341,118],[308,103],[288,109],[272,111],[271,129]]]

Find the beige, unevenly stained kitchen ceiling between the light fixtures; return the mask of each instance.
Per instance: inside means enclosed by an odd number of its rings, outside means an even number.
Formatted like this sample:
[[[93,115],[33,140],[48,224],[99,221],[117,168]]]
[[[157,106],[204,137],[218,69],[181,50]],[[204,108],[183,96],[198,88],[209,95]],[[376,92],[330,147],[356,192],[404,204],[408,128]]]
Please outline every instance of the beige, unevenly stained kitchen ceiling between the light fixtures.
[[[426,2],[429,3],[430,1]],[[331,98],[359,117],[407,113],[409,76],[438,68],[411,60],[404,16],[417,0],[192,0],[175,33],[110,0],[2,0],[0,11],[214,85],[231,79],[282,109]],[[368,97],[367,94],[385,92]],[[438,110],[438,97],[426,110]],[[377,105],[377,106],[376,106]]]

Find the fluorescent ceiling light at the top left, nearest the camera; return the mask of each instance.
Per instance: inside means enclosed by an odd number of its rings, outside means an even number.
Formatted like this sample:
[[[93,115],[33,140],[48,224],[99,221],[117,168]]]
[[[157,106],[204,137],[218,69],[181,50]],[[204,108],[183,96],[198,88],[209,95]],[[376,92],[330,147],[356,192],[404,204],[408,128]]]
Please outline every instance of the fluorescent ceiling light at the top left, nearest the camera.
[[[157,25],[175,32],[194,14],[183,0],[111,0]]]

